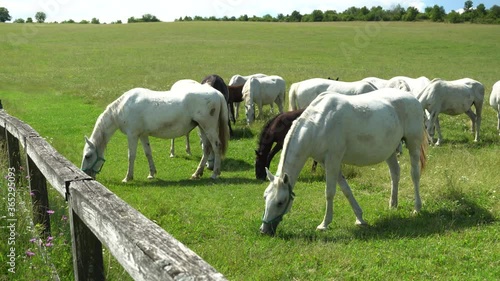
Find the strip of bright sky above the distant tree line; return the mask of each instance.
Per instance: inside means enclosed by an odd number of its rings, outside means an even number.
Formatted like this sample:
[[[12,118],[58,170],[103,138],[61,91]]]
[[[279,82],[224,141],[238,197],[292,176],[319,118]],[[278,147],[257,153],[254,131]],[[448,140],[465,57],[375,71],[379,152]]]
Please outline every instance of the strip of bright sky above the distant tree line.
[[[63,21],[73,19],[75,21],[91,20],[98,18],[101,23],[122,20],[126,22],[129,17],[141,17],[144,14],[153,14],[162,21],[173,21],[184,16],[223,16],[241,15],[263,16],[270,14],[276,16],[278,13],[291,14],[299,11],[309,14],[313,10],[336,10],[342,12],[349,7],[382,6],[385,9],[400,4],[403,7],[413,6],[423,10],[427,6],[435,4],[443,6],[446,12],[463,8],[465,1],[446,0],[0,0],[0,7],[9,10],[12,19],[27,17],[34,18],[38,11],[45,12],[47,21]],[[473,1],[474,6],[483,3],[486,8],[500,5],[498,0]]]

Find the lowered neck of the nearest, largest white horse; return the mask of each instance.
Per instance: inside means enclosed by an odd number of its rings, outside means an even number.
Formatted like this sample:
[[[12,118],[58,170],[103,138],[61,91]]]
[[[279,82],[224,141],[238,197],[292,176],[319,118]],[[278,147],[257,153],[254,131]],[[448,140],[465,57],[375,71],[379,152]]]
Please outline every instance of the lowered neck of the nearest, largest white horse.
[[[307,124],[302,124],[304,120],[300,120],[300,123],[297,122],[295,126],[292,126],[290,130],[293,131],[287,134],[276,172],[280,176],[284,173],[288,174],[292,187],[295,186],[300,171],[311,154],[312,147],[311,134],[298,132],[298,130],[307,130]]]

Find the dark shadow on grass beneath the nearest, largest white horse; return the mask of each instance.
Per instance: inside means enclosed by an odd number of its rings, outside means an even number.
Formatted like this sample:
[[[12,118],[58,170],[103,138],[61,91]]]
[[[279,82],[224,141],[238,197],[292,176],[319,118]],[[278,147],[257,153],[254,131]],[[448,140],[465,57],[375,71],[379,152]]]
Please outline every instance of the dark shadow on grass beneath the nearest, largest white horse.
[[[446,200],[453,207],[440,208],[436,211],[423,210],[416,215],[404,215],[401,212],[388,213],[387,216],[370,222],[368,226],[349,228],[347,232],[328,235],[327,232],[305,231],[299,233],[279,233],[285,240],[301,239],[306,241],[348,242],[357,240],[381,240],[426,237],[448,231],[480,227],[493,224],[497,219],[487,209],[467,199],[465,194],[453,191],[446,195]],[[331,230],[330,230],[331,232]]]

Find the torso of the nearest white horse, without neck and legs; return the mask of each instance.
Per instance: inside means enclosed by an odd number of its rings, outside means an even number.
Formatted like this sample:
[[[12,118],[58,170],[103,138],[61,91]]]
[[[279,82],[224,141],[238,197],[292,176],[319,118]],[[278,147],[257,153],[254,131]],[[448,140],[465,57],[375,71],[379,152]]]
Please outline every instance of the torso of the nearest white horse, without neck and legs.
[[[300,118],[316,124],[316,157],[343,155],[343,163],[364,166],[380,163],[396,151],[402,139],[420,144],[423,113],[418,100],[398,89],[346,96],[324,92]]]

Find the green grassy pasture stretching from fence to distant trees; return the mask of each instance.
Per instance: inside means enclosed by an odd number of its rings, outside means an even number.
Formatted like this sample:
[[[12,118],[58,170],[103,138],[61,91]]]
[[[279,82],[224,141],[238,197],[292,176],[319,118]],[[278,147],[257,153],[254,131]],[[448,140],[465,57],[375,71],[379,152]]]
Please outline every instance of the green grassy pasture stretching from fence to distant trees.
[[[193,156],[185,154],[184,138],[176,139],[175,158],[169,157],[170,141],[151,138],[157,178],[146,179],[148,164],[139,148],[135,177],[128,183],[121,182],[127,142],[117,132],[97,179],[230,280],[492,280],[500,276],[500,138],[488,100],[500,80],[499,48],[500,27],[492,25],[0,24],[0,99],[9,114],[80,166],[84,136],[90,136],[99,114],[135,87],[167,90],[177,80],[201,81],[213,73],[226,83],[234,74],[266,73],[283,77],[288,95],[291,83],[313,77],[473,78],[485,86],[481,140],[473,142],[466,115],[440,115],[444,141],[429,147],[421,177],[423,206],[416,216],[411,215],[414,196],[404,149],[397,210],[388,207],[385,163],[346,166],[369,226],[354,225],[351,207],[338,192],[330,228],[316,231],[325,208],[324,171],[311,173],[308,162],[276,236],[261,235],[268,181],[255,179],[253,164],[260,129],[272,116],[268,106],[263,118],[248,127],[240,105],[218,180],[208,172],[200,180],[190,179],[201,156],[196,130],[191,132]],[[278,160],[271,164],[273,173]],[[63,215],[64,201],[52,195],[51,207]],[[1,215],[4,206],[2,200]],[[67,237],[69,229],[55,229]],[[19,255],[24,257],[22,249]],[[6,277],[2,258],[0,276]],[[71,264],[67,255],[50,260],[58,265],[62,259]],[[107,252],[104,259],[109,280],[129,278]],[[17,274],[43,276],[30,268],[29,259],[23,260]],[[67,265],[59,268],[64,280],[72,274]]]

